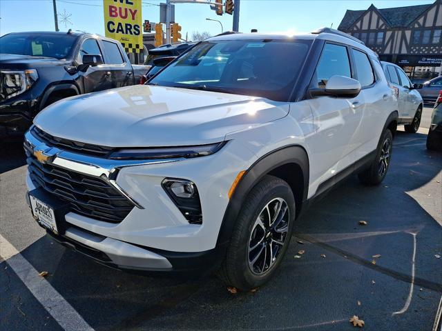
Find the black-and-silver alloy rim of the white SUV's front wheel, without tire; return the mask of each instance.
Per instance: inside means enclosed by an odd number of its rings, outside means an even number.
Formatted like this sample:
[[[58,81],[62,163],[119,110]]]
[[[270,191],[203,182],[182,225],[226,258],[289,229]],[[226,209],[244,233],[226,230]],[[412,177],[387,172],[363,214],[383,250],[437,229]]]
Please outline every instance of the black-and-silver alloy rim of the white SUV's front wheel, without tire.
[[[253,274],[265,274],[275,265],[287,239],[289,206],[282,198],[271,200],[261,210],[249,238],[247,259]]]

